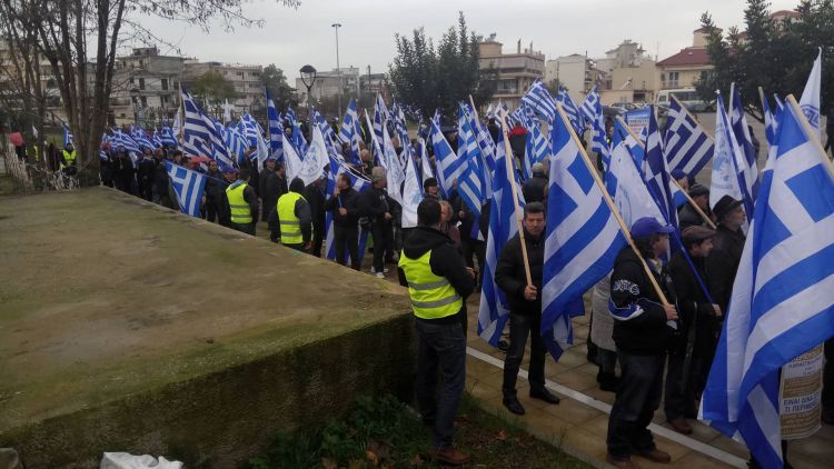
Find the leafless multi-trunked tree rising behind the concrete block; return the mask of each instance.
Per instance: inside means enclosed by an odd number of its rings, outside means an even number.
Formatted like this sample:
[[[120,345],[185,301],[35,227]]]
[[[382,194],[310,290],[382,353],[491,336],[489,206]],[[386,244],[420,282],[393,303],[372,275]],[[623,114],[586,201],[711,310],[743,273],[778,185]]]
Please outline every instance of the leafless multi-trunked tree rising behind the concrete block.
[[[299,0],[276,0],[298,7]],[[156,16],[208,28],[218,18],[227,30],[236,24],[260,26],[247,18],[242,0],[0,0],[3,4],[3,34],[17,41],[18,50],[28,42],[34,46],[29,62],[22,68],[37,69],[38,57],[51,66],[51,74],[60,91],[67,123],[78,150],[78,178],[82,186],[98,184],[98,148],[110,110],[113,67],[119,40],[125,30],[152,36],[135,17]],[[31,47],[29,44],[28,47]],[[31,50],[31,49],[30,49]],[[40,73],[23,80],[23,90],[40,90]],[[38,86],[36,86],[38,84]],[[29,92],[29,91],[28,91]],[[36,100],[37,101],[37,100]],[[42,122],[43,114],[40,114]]]

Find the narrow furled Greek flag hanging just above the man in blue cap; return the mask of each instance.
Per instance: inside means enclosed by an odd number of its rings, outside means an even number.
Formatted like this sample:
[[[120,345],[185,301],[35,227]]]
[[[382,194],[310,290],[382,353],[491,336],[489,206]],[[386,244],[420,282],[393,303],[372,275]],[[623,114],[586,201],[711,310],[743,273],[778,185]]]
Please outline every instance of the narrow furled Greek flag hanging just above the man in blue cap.
[[[672,176],[666,166],[661,148],[661,132],[657,130],[657,120],[654,110],[648,113],[648,126],[646,126],[646,159],[643,160],[643,178],[648,187],[648,192],[657,202],[663,213],[663,220],[673,227],[677,227],[677,204],[672,197]]]

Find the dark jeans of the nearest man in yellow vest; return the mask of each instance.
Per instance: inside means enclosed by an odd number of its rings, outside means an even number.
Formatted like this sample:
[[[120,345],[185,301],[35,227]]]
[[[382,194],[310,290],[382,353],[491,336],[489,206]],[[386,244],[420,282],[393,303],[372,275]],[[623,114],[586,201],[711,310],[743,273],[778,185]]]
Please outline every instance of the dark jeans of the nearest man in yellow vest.
[[[423,422],[434,427],[431,445],[451,447],[455,415],[466,382],[466,335],[460,322],[433,323],[417,319],[417,405]],[[441,378],[438,392],[437,376]]]

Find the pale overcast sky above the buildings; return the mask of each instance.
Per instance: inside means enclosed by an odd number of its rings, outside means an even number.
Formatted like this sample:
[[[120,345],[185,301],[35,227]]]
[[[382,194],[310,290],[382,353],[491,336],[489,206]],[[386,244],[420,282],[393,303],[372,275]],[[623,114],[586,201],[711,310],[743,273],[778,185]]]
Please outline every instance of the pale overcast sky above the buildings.
[[[741,0],[301,0],[295,10],[274,0],[251,0],[244,7],[250,18],[265,20],[262,28],[237,27],[226,32],[214,23],[209,33],[199,28],[141,18],[143,26],[179,48],[183,56],[228,63],[275,63],[290,84],[298,70],[310,63],[318,70],[336,67],[339,28],[339,63],[367,72],[387,71],[395,54],[395,33],[411,34],[424,27],[437,39],[457,23],[464,11],[470,30],[496,33],[505,52],[523,48],[542,51],[547,59],[587,52],[599,58],[624,39],[643,44],[652,57],[664,59],[692,44],[701,13],[709,11],[726,30],[743,26]],[[791,10],[797,0],[773,0],[772,11]],[[176,54],[160,44],[162,53]]]

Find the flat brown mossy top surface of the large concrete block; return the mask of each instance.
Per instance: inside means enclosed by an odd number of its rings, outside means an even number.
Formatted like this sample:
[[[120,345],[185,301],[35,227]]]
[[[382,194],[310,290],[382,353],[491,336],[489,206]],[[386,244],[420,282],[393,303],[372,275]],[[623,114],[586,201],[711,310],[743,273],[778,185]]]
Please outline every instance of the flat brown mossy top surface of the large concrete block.
[[[0,435],[408,312],[398,286],[106,188],[0,198]]]

